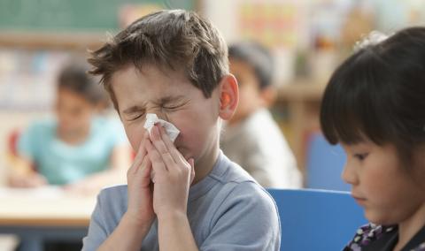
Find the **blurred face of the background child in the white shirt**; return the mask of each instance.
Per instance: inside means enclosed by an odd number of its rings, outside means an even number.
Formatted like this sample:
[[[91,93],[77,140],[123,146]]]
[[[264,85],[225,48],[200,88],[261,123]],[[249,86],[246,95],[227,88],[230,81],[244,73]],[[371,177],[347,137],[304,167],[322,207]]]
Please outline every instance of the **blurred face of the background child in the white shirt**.
[[[230,72],[235,75],[239,85],[239,104],[230,123],[236,123],[251,115],[252,112],[265,106],[259,89],[259,80],[251,65],[241,60],[229,59]]]

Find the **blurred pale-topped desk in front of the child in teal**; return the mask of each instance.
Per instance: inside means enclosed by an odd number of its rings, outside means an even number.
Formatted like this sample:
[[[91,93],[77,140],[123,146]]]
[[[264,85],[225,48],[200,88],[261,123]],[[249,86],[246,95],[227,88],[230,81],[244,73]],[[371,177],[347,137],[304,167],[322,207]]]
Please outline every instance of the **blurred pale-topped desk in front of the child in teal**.
[[[44,240],[81,241],[95,197],[66,194],[58,187],[0,188],[0,233],[16,234],[21,250],[42,250]]]

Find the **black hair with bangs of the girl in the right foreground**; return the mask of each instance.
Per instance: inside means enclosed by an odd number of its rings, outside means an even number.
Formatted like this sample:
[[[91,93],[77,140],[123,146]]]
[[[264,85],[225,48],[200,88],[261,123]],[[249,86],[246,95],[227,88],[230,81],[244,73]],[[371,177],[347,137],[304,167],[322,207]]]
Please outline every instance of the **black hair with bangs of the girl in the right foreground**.
[[[410,163],[425,143],[425,27],[359,49],[332,75],[321,103],[331,144],[391,143]]]

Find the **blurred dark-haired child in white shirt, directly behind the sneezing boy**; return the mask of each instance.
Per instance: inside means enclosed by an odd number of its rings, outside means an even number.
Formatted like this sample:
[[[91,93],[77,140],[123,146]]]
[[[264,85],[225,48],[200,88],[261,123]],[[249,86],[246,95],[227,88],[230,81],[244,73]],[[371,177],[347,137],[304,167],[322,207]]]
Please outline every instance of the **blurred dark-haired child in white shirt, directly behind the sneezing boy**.
[[[267,110],[274,100],[272,56],[258,43],[241,42],[229,47],[228,57],[239,86],[239,104],[221,136],[223,152],[261,186],[299,188],[295,157]]]

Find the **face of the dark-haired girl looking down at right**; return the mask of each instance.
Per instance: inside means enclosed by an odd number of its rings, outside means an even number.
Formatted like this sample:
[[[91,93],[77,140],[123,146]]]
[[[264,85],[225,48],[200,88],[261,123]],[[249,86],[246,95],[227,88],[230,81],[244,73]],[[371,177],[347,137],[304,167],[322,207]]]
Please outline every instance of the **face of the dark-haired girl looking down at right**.
[[[347,154],[342,178],[352,185],[352,196],[370,222],[398,224],[425,207],[423,158],[416,157],[414,166],[406,167],[393,145],[342,145]]]

